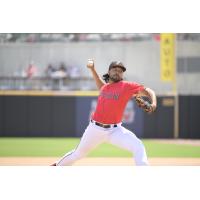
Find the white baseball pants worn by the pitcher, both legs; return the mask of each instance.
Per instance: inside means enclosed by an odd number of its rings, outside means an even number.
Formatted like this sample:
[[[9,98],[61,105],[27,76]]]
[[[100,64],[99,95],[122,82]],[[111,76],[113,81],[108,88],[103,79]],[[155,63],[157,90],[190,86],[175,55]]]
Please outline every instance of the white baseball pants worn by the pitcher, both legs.
[[[90,122],[86,128],[77,148],[65,154],[56,165],[72,165],[104,142],[132,152],[136,165],[148,165],[144,145],[134,133],[121,126],[121,124],[118,124],[117,127],[102,128],[93,122]]]

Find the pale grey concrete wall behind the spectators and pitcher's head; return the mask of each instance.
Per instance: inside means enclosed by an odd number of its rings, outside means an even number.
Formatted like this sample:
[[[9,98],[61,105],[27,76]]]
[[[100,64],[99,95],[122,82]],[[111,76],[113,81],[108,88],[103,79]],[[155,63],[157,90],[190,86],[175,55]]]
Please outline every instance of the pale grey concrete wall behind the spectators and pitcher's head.
[[[177,44],[177,57],[199,56],[200,43]],[[85,66],[88,58],[95,59],[100,74],[107,71],[112,60],[121,60],[127,67],[127,80],[138,81],[160,94],[172,91],[172,84],[160,80],[160,43],[157,41],[0,44],[0,75],[21,73],[34,61],[41,74],[49,63],[65,62],[80,67],[84,76],[90,76]],[[199,78],[199,73],[190,74],[190,77],[178,74],[181,93],[192,90],[192,93],[199,94],[200,85],[193,81]]]

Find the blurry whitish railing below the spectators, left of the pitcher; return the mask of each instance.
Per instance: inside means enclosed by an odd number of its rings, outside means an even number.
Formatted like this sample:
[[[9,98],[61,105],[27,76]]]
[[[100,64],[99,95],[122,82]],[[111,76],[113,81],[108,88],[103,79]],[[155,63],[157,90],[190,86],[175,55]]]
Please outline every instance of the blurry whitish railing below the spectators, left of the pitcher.
[[[0,90],[95,90],[94,80],[89,77],[0,77]]]

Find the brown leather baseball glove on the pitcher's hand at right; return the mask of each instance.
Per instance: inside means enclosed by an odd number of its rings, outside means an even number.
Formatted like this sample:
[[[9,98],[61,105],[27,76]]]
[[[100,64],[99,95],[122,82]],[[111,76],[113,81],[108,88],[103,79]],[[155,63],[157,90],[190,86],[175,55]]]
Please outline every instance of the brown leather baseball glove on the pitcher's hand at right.
[[[152,113],[154,111],[153,107],[151,106],[150,100],[146,97],[136,96],[135,101],[142,110],[146,113]]]

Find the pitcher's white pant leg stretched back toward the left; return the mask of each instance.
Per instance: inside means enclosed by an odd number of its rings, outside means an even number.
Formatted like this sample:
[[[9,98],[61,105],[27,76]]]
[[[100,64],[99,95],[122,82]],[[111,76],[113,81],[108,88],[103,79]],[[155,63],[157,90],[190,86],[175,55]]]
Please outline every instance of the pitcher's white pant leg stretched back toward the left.
[[[90,123],[77,148],[66,153],[56,165],[72,165],[74,162],[85,157],[92,149],[101,144],[105,140],[104,137],[105,135]]]

